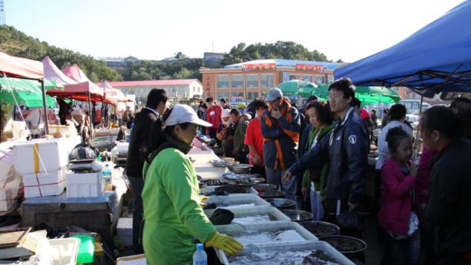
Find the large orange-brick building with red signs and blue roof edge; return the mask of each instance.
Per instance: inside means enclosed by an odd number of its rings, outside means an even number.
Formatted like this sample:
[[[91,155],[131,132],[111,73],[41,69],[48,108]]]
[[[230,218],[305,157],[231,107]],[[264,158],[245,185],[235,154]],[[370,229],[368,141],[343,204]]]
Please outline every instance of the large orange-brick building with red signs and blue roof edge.
[[[301,79],[313,83],[329,83],[334,80],[334,69],[339,63],[296,61],[285,59],[263,59],[227,65],[220,69],[201,68],[205,97],[229,98],[230,101],[245,101],[262,97],[276,85]]]

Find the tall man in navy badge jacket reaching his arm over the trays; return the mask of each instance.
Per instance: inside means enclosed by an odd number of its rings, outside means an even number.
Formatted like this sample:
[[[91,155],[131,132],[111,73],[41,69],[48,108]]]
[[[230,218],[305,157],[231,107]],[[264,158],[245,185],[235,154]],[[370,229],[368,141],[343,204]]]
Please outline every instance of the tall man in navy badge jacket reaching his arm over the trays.
[[[353,110],[353,83],[348,78],[329,86],[332,112],[340,117],[330,137],[324,137],[285,173],[284,180],[307,169],[320,169],[330,162],[326,184],[326,210],[330,216],[354,210],[365,188],[363,178],[368,165],[367,133],[363,121]],[[335,221],[335,217],[333,218]],[[340,227],[342,234],[361,237],[361,231]]]

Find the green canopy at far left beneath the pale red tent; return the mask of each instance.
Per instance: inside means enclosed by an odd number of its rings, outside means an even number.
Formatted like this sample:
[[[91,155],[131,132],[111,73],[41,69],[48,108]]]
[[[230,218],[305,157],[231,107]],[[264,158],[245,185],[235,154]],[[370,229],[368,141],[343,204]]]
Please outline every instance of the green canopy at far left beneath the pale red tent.
[[[47,89],[55,88],[53,82],[44,80],[44,86]],[[27,107],[43,106],[43,94],[41,92],[41,83],[36,80],[0,78],[0,102],[15,104],[25,104]],[[46,103],[49,107],[54,107],[55,99],[46,95]]]

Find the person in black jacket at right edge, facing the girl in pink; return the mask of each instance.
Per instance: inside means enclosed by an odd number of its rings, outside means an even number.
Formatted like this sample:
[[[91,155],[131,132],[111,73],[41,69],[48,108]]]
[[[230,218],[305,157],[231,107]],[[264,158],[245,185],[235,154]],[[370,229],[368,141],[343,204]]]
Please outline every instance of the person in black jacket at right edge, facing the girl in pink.
[[[471,141],[463,139],[459,117],[445,106],[427,109],[420,118],[431,159],[425,219],[433,225],[440,265],[471,264]]]

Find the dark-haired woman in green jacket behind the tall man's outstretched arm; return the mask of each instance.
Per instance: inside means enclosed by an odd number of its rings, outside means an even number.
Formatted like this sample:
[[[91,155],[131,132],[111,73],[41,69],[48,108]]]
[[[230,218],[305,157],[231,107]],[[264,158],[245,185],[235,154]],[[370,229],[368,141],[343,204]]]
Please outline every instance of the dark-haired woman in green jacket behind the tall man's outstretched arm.
[[[328,137],[334,126],[333,115],[330,107],[325,102],[312,102],[306,106],[306,115],[313,125],[309,132],[306,150],[313,148],[323,137]],[[325,195],[325,179],[329,172],[329,163],[325,163],[322,169],[306,170],[303,176],[302,193],[307,196],[310,190],[311,210],[314,214],[313,221],[320,221],[324,217],[322,201]]]

